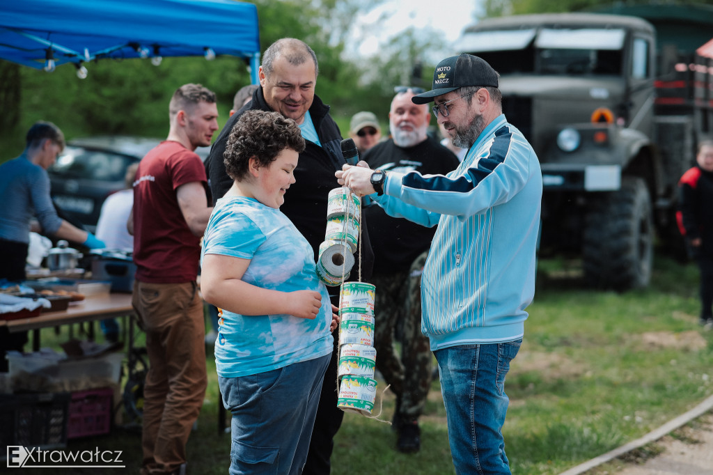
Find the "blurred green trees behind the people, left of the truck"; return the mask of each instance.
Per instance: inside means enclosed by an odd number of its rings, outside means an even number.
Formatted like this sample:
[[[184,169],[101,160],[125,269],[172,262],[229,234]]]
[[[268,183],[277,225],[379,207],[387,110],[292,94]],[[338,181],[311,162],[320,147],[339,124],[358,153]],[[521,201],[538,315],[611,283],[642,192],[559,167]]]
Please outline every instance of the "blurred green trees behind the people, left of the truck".
[[[370,31],[357,31],[352,22],[384,0],[252,0],[260,22],[260,47],[293,37],[317,53],[317,94],[332,106],[332,116],[344,129],[356,111],[371,110],[386,121],[394,85],[430,86],[432,64],[423,64],[414,78],[414,64],[423,63],[429,49],[443,41],[434,31],[409,29],[391,39],[378,54],[361,58],[355,41]],[[381,21],[388,21],[382,19]],[[377,24],[374,28],[379,28]],[[53,73],[0,60],[0,160],[24,148],[24,131],[39,120],[56,123],[68,139],[101,134],[162,137],[168,131],[168,102],[178,86],[201,83],[215,91],[221,123],[227,119],[235,92],[250,82],[240,58],[163,58],[160,66],[148,60],[104,59],[87,63],[88,77],[76,77],[69,65]],[[347,131],[342,133],[346,135]]]

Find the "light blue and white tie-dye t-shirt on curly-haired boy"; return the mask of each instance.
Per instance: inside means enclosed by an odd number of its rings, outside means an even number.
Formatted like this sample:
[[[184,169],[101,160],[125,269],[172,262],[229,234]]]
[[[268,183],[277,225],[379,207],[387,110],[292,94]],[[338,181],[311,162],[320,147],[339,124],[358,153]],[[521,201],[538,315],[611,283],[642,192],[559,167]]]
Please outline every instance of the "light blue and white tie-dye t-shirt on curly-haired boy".
[[[327,287],[317,277],[309,242],[280,210],[254,198],[221,198],[205,229],[202,255],[206,254],[250,259],[242,280],[257,287],[322,294],[322,309],[314,320],[222,310],[215,342],[219,376],[257,374],[332,352]]]

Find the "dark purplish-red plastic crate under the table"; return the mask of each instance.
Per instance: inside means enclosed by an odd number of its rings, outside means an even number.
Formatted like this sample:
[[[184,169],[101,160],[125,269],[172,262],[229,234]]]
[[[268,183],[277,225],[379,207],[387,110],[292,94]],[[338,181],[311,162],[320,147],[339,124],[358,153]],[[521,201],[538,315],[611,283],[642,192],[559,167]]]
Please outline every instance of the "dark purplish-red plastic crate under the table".
[[[111,431],[113,396],[113,389],[108,387],[73,392],[69,403],[67,439],[108,434]]]

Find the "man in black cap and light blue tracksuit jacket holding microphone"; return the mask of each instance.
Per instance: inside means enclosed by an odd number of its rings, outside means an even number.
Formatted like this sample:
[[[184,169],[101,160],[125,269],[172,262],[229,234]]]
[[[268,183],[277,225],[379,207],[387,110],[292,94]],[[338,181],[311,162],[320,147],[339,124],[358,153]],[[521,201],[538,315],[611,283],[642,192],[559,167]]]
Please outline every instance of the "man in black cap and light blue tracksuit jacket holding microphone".
[[[458,474],[510,474],[501,429],[505,377],[535,292],[542,173],[502,113],[498,73],[461,54],[436,66],[434,115],[468,148],[447,175],[345,165],[340,184],[371,195],[389,215],[438,225],[421,279],[421,330],[438,361],[448,440]],[[376,193],[375,195],[372,195]]]

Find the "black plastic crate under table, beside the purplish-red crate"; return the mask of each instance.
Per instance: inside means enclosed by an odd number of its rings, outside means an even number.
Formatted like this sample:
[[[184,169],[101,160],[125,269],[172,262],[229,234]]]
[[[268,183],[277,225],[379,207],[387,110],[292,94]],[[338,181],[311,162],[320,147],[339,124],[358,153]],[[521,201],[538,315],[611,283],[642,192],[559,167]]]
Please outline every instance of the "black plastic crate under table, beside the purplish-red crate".
[[[0,394],[0,446],[65,447],[70,399],[68,392]]]

